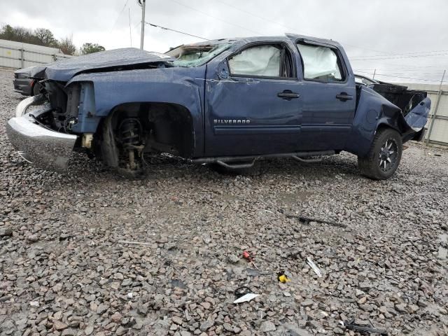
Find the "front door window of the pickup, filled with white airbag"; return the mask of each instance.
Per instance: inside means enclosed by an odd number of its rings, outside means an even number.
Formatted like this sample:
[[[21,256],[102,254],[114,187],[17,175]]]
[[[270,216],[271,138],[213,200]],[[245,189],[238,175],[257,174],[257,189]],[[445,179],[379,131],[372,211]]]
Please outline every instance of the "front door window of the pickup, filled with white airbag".
[[[290,52],[283,45],[255,45],[228,59],[230,73],[249,77],[292,77]]]

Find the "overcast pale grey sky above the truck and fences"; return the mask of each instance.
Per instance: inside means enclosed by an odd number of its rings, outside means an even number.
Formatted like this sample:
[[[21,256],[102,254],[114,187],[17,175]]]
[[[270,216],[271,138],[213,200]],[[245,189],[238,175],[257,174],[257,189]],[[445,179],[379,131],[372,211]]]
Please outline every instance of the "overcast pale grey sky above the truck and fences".
[[[436,82],[448,69],[447,0],[147,0],[146,21],[204,38],[285,32],[332,38],[358,73]],[[0,0],[0,25],[50,29],[80,47],[139,47],[137,0]],[[146,25],[146,50],[200,41]],[[387,76],[384,76],[387,75]],[[400,77],[400,78],[399,78]],[[411,79],[412,78],[412,79]],[[446,78],[448,80],[448,76]]]

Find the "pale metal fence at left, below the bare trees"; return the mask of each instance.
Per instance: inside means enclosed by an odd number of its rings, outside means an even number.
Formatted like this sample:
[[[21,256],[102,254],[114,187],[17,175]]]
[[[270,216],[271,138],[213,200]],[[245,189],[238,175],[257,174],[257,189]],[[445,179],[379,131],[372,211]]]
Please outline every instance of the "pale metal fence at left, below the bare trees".
[[[8,68],[27,68],[69,57],[72,56],[62,54],[57,48],[12,41],[0,43],[0,66]]]

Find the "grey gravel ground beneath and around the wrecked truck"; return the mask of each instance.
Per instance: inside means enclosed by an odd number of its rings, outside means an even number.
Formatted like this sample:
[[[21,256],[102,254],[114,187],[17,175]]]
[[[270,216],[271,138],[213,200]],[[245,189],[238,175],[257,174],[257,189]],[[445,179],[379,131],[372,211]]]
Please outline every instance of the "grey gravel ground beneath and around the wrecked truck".
[[[10,146],[12,78],[0,70],[0,335],[358,335],[351,318],[447,334],[448,151],[411,144],[388,181],[346,153],[255,177],[154,158],[139,181],[80,156],[63,176]],[[241,286],[260,296],[233,304]]]

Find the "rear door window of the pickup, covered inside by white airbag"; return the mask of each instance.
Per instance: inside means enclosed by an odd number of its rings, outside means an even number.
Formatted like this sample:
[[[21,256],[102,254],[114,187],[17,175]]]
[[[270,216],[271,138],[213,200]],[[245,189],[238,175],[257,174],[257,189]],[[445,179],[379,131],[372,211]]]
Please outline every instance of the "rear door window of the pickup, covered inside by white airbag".
[[[336,51],[320,45],[297,43],[303,61],[304,79],[323,82],[344,81],[342,63]]]

